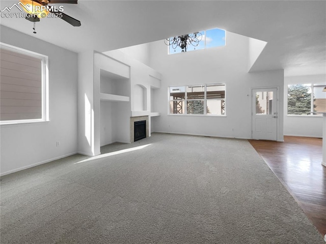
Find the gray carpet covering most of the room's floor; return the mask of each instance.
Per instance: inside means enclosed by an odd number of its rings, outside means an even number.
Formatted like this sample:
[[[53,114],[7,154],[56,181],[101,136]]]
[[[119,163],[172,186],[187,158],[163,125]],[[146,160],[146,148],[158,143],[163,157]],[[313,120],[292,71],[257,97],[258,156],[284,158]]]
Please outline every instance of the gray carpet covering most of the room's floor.
[[[246,140],[154,133],[101,151],[2,177],[1,243],[324,243]]]

